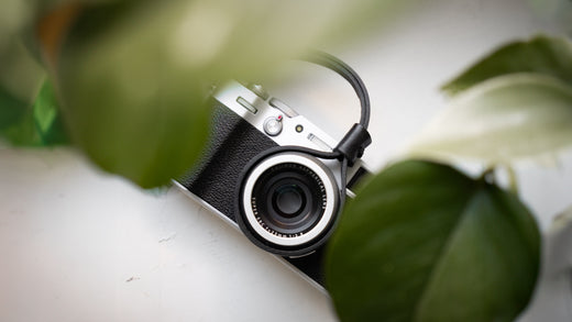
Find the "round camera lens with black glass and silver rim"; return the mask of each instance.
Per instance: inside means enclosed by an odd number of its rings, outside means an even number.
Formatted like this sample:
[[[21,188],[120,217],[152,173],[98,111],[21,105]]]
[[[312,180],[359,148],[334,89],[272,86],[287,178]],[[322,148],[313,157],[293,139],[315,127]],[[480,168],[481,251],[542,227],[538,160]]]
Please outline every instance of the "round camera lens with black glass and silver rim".
[[[340,197],[336,179],[322,162],[289,152],[253,166],[240,198],[238,222],[248,236],[295,252],[321,241],[334,222]]]

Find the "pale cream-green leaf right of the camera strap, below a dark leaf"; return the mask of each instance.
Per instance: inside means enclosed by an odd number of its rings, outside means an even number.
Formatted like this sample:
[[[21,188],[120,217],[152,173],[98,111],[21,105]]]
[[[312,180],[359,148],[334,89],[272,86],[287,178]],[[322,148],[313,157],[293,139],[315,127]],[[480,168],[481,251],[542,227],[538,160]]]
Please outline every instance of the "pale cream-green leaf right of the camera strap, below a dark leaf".
[[[455,97],[411,144],[424,157],[468,157],[491,165],[537,157],[572,144],[572,86],[515,74]]]

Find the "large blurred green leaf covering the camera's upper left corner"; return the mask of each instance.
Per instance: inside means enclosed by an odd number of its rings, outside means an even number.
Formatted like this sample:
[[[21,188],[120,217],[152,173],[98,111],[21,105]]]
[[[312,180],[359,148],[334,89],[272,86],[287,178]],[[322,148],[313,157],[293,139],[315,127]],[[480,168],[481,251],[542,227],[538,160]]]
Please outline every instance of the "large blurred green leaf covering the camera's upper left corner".
[[[397,3],[327,2],[86,3],[56,68],[74,143],[105,170],[144,188],[167,184],[202,151],[204,89],[211,81],[258,81],[278,62],[339,37],[333,26],[349,26],[367,9],[383,15],[382,8]]]

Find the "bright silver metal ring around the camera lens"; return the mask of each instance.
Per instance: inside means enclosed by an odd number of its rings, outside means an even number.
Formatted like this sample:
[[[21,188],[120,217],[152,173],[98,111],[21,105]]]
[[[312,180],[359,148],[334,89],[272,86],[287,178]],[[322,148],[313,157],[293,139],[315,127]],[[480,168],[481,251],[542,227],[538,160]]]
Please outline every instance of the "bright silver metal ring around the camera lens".
[[[254,186],[258,178],[270,168],[280,164],[296,164],[311,170],[323,184],[324,202],[321,211],[321,218],[317,223],[312,224],[308,231],[297,234],[280,233],[276,230],[270,229],[262,220],[261,215],[256,215],[256,209],[253,209],[252,198]],[[248,176],[244,182],[242,193],[242,206],[246,223],[252,227],[254,233],[265,241],[279,246],[297,246],[311,242],[323,233],[323,231],[332,222],[338,210],[339,196],[337,193],[338,185],[331,174],[317,158],[307,156],[300,153],[282,153],[268,157],[260,163]],[[272,197],[271,197],[272,198]]]

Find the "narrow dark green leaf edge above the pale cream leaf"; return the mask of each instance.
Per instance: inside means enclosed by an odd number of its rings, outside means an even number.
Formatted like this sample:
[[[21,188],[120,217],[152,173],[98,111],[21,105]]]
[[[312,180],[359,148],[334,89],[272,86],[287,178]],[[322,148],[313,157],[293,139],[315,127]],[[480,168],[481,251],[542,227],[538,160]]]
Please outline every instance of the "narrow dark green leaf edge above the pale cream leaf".
[[[457,95],[487,79],[515,73],[536,73],[572,86],[572,43],[566,37],[537,36],[515,42],[481,59],[442,90]]]

